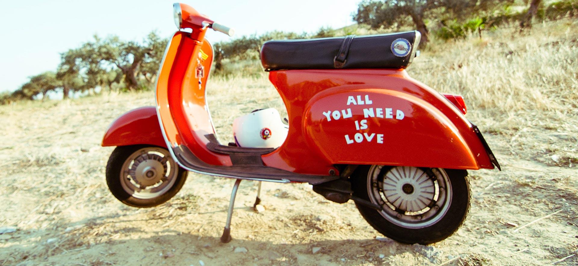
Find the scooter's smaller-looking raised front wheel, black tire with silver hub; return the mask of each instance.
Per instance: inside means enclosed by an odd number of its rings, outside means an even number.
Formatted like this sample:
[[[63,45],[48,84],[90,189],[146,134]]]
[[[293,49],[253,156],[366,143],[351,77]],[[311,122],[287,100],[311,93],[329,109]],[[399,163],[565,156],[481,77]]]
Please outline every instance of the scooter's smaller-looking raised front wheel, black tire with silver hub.
[[[163,147],[118,146],[106,165],[106,184],[124,204],[149,208],[175,196],[187,173]]]

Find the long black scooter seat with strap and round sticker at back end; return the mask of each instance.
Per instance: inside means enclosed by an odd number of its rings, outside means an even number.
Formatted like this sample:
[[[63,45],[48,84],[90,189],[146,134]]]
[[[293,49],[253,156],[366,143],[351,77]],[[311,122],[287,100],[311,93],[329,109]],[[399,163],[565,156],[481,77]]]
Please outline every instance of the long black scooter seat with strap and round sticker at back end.
[[[392,43],[410,43],[407,55],[394,54]],[[406,68],[412,61],[421,35],[418,31],[346,37],[270,40],[261,47],[261,64],[266,71],[280,69]],[[402,40],[403,41],[403,40]],[[343,49],[344,43],[350,45]],[[346,50],[346,61],[335,64],[338,53]]]

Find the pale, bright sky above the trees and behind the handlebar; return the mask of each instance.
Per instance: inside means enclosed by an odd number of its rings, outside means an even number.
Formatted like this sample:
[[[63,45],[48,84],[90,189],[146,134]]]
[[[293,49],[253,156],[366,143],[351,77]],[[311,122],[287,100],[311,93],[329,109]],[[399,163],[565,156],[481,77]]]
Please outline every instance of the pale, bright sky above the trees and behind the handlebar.
[[[361,0],[181,0],[210,19],[235,29],[235,36],[268,31],[316,32],[353,24]],[[28,77],[54,71],[60,53],[99,36],[142,40],[151,31],[166,38],[176,31],[175,0],[29,0],[0,2],[0,91],[14,91]],[[212,30],[210,42],[227,40]]]

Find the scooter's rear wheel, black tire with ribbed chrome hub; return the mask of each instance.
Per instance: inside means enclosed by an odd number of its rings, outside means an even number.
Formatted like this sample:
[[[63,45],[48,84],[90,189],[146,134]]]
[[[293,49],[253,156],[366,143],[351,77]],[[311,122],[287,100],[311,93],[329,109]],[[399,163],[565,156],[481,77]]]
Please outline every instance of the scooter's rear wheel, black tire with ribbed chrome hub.
[[[446,239],[464,222],[470,206],[468,172],[418,167],[358,167],[354,195],[381,206],[356,204],[368,223],[402,243],[427,245]]]

